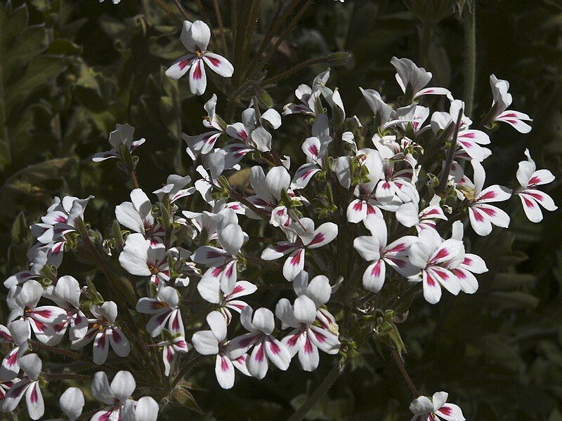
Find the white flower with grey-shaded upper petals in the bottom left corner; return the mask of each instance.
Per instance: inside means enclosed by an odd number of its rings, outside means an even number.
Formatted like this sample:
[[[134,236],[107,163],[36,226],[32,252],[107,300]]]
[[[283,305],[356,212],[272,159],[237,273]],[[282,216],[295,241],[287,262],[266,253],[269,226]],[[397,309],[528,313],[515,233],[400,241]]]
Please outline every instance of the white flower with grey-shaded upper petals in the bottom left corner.
[[[20,358],[20,368],[25,375],[8,390],[1,402],[1,409],[12,412],[25,395],[27,413],[32,420],[39,420],[45,412],[43,395],[39,389],[39,374],[43,363],[37,354],[27,354]]]

